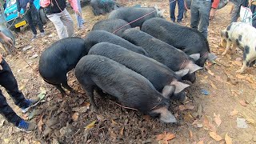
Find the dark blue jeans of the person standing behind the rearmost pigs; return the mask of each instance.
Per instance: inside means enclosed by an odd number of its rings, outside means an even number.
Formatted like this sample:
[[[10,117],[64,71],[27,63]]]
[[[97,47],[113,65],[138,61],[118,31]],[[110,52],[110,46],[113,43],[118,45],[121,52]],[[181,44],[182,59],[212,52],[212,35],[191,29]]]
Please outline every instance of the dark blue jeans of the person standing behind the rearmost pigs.
[[[170,3],[170,20],[175,22],[175,7],[176,3],[178,2],[178,18],[177,22],[182,22],[183,13],[184,13],[184,0],[176,0],[173,2],[173,0],[169,0]]]

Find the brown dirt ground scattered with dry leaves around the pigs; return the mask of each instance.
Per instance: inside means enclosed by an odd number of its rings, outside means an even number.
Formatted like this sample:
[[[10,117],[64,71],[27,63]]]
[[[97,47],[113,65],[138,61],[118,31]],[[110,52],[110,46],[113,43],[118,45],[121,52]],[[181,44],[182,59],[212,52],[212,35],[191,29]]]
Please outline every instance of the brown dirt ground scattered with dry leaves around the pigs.
[[[122,1],[126,6],[137,4],[157,4],[166,10],[164,16],[170,21],[168,1]],[[46,90],[46,98],[45,102],[30,110],[31,121],[38,123],[38,129],[30,134],[16,130],[1,117],[0,143],[166,143],[158,140],[161,139],[159,134],[164,133],[171,135],[171,138],[166,138],[168,143],[230,143],[230,140],[233,143],[256,143],[255,66],[247,69],[245,74],[236,74],[235,71],[242,66],[242,51],[234,50],[234,54],[224,57],[221,55],[224,48],[218,46],[219,31],[230,22],[230,6],[228,3],[218,10],[210,22],[210,50],[218,56],[218,64],[207,62],[205,69],[198,72],[197,81],[186,90],[190,102],[186,105],[173,102],[170,107],[181,121],[180,126],[164,124],[97,95],[95,101],[99,110],[92,113],[89,98],[79,86],[74,71],[69,73],[69,84],[77,92],[62,98],[54,86],[42,81],[37,71],[42,51],[58,40],[53,24],[48,22],[46,36],[34,42],[29,42],[30,30],[22,31],[16,35],[18,54],[8,55],[6,61],[26,98],[37,96],[43,89]],[[76,23],[72,10],[70,13]],[[85,38],[94,23],[106,16],[94,16],[90,6],[83,6],[86,30],[76,29],[76,35]],[[184,22],[190,26],[190,14]],[[202,90],[209,94],[202,94]],[[4,94],[14,110],[21,117],[26,117],[6,92]],[[237,118],[246,121],[245,128],[238,127]]]

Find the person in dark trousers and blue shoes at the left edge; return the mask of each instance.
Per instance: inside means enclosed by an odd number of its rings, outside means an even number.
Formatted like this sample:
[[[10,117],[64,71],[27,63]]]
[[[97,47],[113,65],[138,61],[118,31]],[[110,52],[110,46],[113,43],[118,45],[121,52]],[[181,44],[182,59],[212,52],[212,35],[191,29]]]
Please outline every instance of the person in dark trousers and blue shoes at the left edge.
[[[1,31],[0,38],[2,38],[7,45],[13,46],[12,40],[6,37],[6,35]],[[14,100],[15,105],[19,106],[23,113],[26,113],[30,107],[37,105],[40,100],[40,98],[24,98],[22,92],[18,90],[18,84],[14,78],[14,74],[10,70],[10,66],[7,64],[5,59],[2,58],[2,54],[0,54],[0,85],[6,89],[7,93],[10,94],[10,97]],[[36,124],[34,122],[26,122],[14,112],[14,110],[6,102],[6,98],[2,94],[2,90],[0,90],[0,113],[7,119],[8,122],[11,122],[14,124],[14,126],[17,126],[19,130],[31,132],[36,128]]]

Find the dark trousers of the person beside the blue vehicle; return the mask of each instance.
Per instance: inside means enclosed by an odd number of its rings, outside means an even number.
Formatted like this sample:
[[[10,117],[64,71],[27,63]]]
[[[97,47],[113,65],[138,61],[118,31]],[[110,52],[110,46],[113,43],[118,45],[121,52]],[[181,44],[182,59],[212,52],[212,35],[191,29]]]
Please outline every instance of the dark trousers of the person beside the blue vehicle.
[[[38,10],[35,8],[34,4],[30,6],[29,10],[27,10],[25,18],[26,21],[29,23],[30,29],[32,30],[33,34],[38,34],[34,24],[38,24],[38,28],[41,33],[44,32],[42,22],[38,15]]]

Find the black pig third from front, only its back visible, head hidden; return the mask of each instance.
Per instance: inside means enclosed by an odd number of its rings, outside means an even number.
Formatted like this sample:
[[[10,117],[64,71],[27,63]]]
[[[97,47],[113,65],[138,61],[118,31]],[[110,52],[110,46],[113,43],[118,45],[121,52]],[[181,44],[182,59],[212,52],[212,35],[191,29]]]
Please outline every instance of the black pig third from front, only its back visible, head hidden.
[[[85,38],[87,53],[90,48],[99,42],[110,42],[118,46],[122,46],[128,50],[132,50],[138,54],[143,54],[148,56],[146,50],[142,49],[142,47],[135,46],[134,44],[126,41],[123,38],[118,37],[117,35],[111,34],[105,30],[94,30],[86,35]]]

